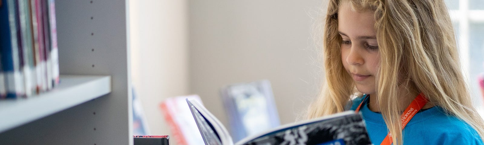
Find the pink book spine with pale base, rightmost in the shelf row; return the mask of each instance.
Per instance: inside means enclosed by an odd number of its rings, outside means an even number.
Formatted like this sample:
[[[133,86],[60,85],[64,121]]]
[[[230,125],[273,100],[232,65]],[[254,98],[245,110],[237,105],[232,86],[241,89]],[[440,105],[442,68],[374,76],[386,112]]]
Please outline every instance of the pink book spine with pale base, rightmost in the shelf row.
[[[57,25],[56,25],[56,8],[55,0],[48,0],[49,5],[49,26],[50,26],[50,60],[52,85],[59,85],[59,49],[57,47]]]

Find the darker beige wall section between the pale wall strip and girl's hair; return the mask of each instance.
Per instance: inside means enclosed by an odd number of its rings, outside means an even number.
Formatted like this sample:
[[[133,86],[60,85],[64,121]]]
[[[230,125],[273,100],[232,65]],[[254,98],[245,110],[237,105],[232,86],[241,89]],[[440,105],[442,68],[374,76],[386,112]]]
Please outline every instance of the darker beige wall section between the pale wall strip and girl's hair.
[[[317,93],[310,15],[320,0],[190,0],[189,85],[226,126],[225,85],[269,79],[283,124]]]

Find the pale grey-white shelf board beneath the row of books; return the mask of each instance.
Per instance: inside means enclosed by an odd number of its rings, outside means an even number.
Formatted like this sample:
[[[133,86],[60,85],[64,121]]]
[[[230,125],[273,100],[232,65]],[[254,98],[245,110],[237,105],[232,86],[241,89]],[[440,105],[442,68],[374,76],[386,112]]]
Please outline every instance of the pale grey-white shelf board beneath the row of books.
[[[111,92],[111,76],[61,75],[51,91],[27,98],[0,100],[0,132],[30,123]]]

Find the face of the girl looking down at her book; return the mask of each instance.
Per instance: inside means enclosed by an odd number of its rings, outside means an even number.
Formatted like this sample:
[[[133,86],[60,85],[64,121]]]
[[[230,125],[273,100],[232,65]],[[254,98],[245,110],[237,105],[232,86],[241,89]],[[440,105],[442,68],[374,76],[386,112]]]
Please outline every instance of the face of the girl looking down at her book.
[[[358,13],[348,3],[338,11],[338,31],[343,39],[341,60],[353,78],[358,91],[375,94],[375,73],[378,70],[379,53],[373,13]]]

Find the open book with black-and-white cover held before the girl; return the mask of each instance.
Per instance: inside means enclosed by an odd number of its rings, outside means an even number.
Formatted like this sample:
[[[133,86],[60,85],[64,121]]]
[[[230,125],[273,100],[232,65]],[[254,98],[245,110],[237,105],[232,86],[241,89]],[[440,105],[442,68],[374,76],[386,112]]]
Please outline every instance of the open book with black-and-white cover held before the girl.
[[[186,99],[205,145],[371,145],[360,114],[352,111],[285,125],[233,143],[222,123]]]

